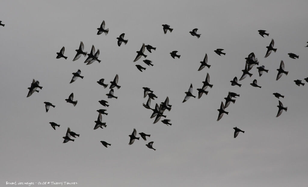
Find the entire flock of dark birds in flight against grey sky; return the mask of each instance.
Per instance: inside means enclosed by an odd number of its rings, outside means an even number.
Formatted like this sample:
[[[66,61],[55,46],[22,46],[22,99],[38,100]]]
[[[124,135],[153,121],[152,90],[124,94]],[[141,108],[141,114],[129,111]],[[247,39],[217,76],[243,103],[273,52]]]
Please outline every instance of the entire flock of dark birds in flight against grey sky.
[[[4,24],[2,24],[2,21],[0,21],[0,26],[3,26],[3,27],[5,26]],[[167,25],[167,24],[164,24],[164,25],[162,25],[162,26],[163,26],[164,34],[167,34],[167,31],[170,31],[170,33],[171,33],[172,30],[173,30],[173,29],[170,28],[170,26]],[[108,34],[109,29],[108,29],[108,28],[105,29],[105,21],[104,21],[104,20],[103,20],[102,24],[100,25],[100,27],[97,28],[97,30],[98,30],[97,35],[100,35],[100,34],[103,34],[103,33],[104,33],[105,35]],[[198,29],[195,28],[195,29],[193,29],[193,31],[190,31],[189,33],[190,33],[192,36],[196,36],[197,38],[200,38],[201,34],[197,34],[197,30],[198,30]],[[266,33],[266,30],[258,30],[258,32],[259,32],[259,34],[260,34],[263,38],[264,38],[264,35],[269,36],[269,33]],[[116,39],[118,39],[118,46],[119,46],[119,47],[121,46],[122,43],[124,43],[125,45],[128,43],[128,40],[125,40],[125,39],[124,39],[124,35],[125,35],[125,34],[123,33],[123,34],[121,34],[118,38],[116,38]],[[307,43],[308,43],[308,42],[307,42]],[[308,47],[308,45],[307,45],[306,47]],[[144,54],[145,48],[146,48],[146,49],[148,50],[148,52],[150,52],[150,53],[152,53],[151,50],[154,50],[154,51],[156,50],[156,47],[152,47],[151,45],[145,45],[145,44],[143,43],[141,49],[140,49],[139,51],[136,51],[137,56],[136,56],[136,58],[133,60],[133,62],[138,61],[141,57],[144,57],[144,58],[147,57],[147,55]],[[264,58],[268,57],[268,56],[271,54],[272,51],[274,51],[274,52],[277,51],[277,49],[274,48],[274,39],[271,40],[269,46],[266,46],[266,48],[267,48],[267,51],[266,51],[266,54],[265,54],[265,57],[264,57]],[[84,63],[86,63],[87,65],[89,65],[89,64],[91,64],[91,63],[94,63],[95,61],[97,61],[98,63],[101,62],[101,60],[98,59],[98,58],[99,58],[99,49],[97,49],[97,51],[95,52],[95,47],[94,47],[94,45],[92,45],[91,52],[90,52],[90,53],[87,53],[86,51],[84,51],[83,42],[80,42],[79,48],[76,49],[75,51],[76,51],[77,53],[76,53],[76,55],[75,55],[73,61],[78,60],[78,59],[83,55],[84,57],[88,56],[87,59],[84,61]],[[214,52],[217,53],[217,55],[220,55],[220,56],[221,56],[221,55],[226,55],[226,53],[224,53],[224,52],[222,52],[222,51],[224,51],[224,49],[216,49],[216,50],[214,50]],[[62,49],[60,50],[60,52],[57,52],[57,53],[56,53],[56,54],[57,54],[57,57],[56,57],[56,58],[57,58],[57,59],[59,59],[59,58],[67,59],[67,57],[64,56],[64,52],[65,52],[65,47],[62,47]],[[175,57],[180,58],[181,55],[176,54],[177,52],[178,52],[178,51],[172,51],[172,52],[170,53],[170,55],[171,55],[171,57],[172,57],[173,59],[175,59]],[[288,53],[288,55],[289,55],[290,58],[292,58],[292,59],[298,59],[298,58],[299,58],[299,56],[298,56],[298,55],[295,55],[294,53]],[[250,54],[248,55],[248,57],[245,58],[245,60],[246,60],[246,61],[245,61],[245,68],[244,68],[244,70],[241,70],[241,71],[243,72],[243,74],[242,74],[241,78],[239,79],[239,81],[245,79],[247,76],[251,77],[252,74],[249,73],[249,71],[253,68],[253,66],[259,65],[258,59],[255,57],[255,55],[254,55],[253,52],[250,53]],[[146,65],[148,65],[148,66],[153,66],[151,60],[145,59],[145,60],[143,60],[143,62],[144,62]],[[208,64],[208,56],[207,56],[207,54],[205,54],[205,57],[204,57],[203,61],[201,61],[200,63],[201,63],[201,65],[200,65],[198,71],[201,71],[204,67],[210,68],[210,66],[211,66],[211,65]],[[142,72],[143,70],[146,70],[146,68],[144,68],[144,67],[142,67],[141,65],[138,65],[138,64],[136,65],[136,67],[137,67],[137,69],[138,69],[139,71],[141,71],[141,72]],[[263,72],[268,73],[268,71],[269,71],[269,70],[266,70],[266,69],[265,69],[265,66],[263,66],[263,65],[257,67],[257,69],[258,69],[258,72],[259,72],[259,77],[261,77],[261,75],[263,74]],[[276,80],[280,79],[281,76],[282,76],[283,74],[288,75],[288,71],[285,71],[285,65],[284,65],[284,63],[283,63],[282,60],[281,60],[279,69],[277,69],[277,71],[278,71],[278,74],[277,74]],[[83,76],[81,76],[81,70],[80,70],[80,69],[78,69],[77,72],[72,73],[72,74],[73,74],[73,77],[72,77],[72,79],[71,79],[71,81],[70,81],[69,83],[75,82],[78,78],[83,79]],[[99,81],[97,81],[97,83],[98,83],[99,85],[102,85],[104,88],[106,88],[106,87],[108,87],[108,84],[105,84],[105,83],[104,83],[104,80],[105,80],[105,79],[100,79]],[[306,82],[308,82],[308,77],[305,78],[304,80],[305,80]],[[118,81],[119,81],[119,75],[115,75],[114,80],[113,80],[113,81],[110,81],[110,83],[111,83],[110,86],[109,86],[110,91],[109,91],[108,94],[106,94],[106,95],[107,95],[107,98],[115,98],[115,99],[118,98],[118,97],[114,96],[114,89],[113,89],[113,88],[115,88],[115,87],[116,87],[117,89],[120,89],[121,86],[118,85]],[[206,78],[205,78],[205,81],[202,82],[202,83],[203,83],[203,86],[202,86],[201,88],[197,88],[197,91],[198,91],[198,99],[200,99],[201,96],[202,96],[203,94],[205,94],[205,95],[208,94],[209,91],[206,91],[206,89],[207,89],[208,87],[210,87],[210,88],[213,87],[213,84],[210,84],[209,82],[210,82],[210,76],[209,76],[209,73],[207,73]],[[237,85],[237,86],[241,87],[241,84],[238,83],[237,77],[234,77],[234,79],[231,80],[230,82],[231,82],[231,85],[232,85],[232,86],[236,86],[236,85]],[[295,82],[298,86],[300,86],[300,85],[303,85],[303,86],[304,86],[304,84],[305,84],[305,83],[302,83],[302,80],[294,80],[294,82]],[[259,88],[261,88],[261,86],[259,86],[259,85],[257,84],[257,80],[256,80],[256,79],[254,79],[253,82],[250,83],[250,85],[252,85],[253,87],[259,87]],[[39,88],[39,89],[42,89],[43,87],[39,86],[39,81],[38,81],[38,80],[33,79],[33,81],[32,81],[32,83],[31,83],[30,87],[28,87],[29,92],[28,92],[27,97],[31,96],[34,92],[39,92],[38,88]],[[153,124],[155,124],[155,123],[157,123],[158,121],[160,121],[161,117],[166,118],[166,115],[164,115],[164,111],[165,111],[166,109],[167,109],[168,111],[170,111],[170,110],[171,110],[171,107],[172,107],[172,105],[169,104],[169,97],[167,97],[167,98],[165,99],[165,101],[164,101],[164,102],[161,102],[159,105],[156,103],[155,108],[151,108],[151,107],[150,107],[150,106],[151,106],[151,100],[155,100],[155,98],[157,98],[157,96],[156,96],[155,94],[153,94],[153,91],[152,91],[150,88],[148,88],[148,87],[143,87],[143,89],[144,89],[144,98],[145,98],[146,96],[148,96],[148,100],[147,100],[146,104],[143,103],[143,106],[144,106],[144,108],[146,108],[146,109],[152,110],[152,115],[151,115],[150,118],[154,118],[154,117],[155,117],[155,120],[154,120]],[[186,102],[190,97],[196,98],[196,96],[193,95],[193,84],[192,84],[192,83],[190,84],[190,87],[189,87],[188,91],[185,92],[185,94],[186,94],[186,96],[184,97],[184,100],[183,100],[182,103]],[[282,95],[279,94],[279,93],[273,93],[273,95],[274,95],[275,97],[277,97],[278,99],[279,99],[280,97],[284,98],[284,96],[282,96]],[[221,102],[220,108],[218,109],[219,114],[218,114],[217,121],[219,121],[219,120],[222,118],[222,116],[223,116],[224,114],[227,114],[227,115],[228,115],[229,112],[226,112],[225,109],[230,105],[231,102],[232,102],[233,104],[235,103],[235,99],[233,99],[233,98],[236,98],[236,97],[239,97],[239,96],[240,96],[239,94],[234,93],[234,92],[229,92],[229,93],[228,93],[228,96],[224,98],[224,99],[225,99],[225,104],[224,104],[223,102]],[[71,95],[68,97],[68,99],[65,99],[65,100],[66,100],[67,103],[73,104],[73,106],[76,106],[76,104],[77,104],[77,100],[74,101],[74,93],[71,93]],[[277,113],[277,116],[276,116],[276,117],[280,116],[280,115],[282,114],[282,111],[283,111],[283,110],[287,111],[287,107],[284,107],[283,104],[282,104],[282,102],[281,102],[280,100],[278,100],[278,102],[279,102],[279,105],[277,106],[277,107],[278,107],[278,113]],[[103,105],[104,107],[108,107],[108,106],[109,106],[109,105],[107,104],[108,102],[107,102],[106,100],[100,100],[99,103],[100,103],[101,105]],[[49,110],[50,107],[55,108],[55,105],[53,105],[53,104],[50,103],[50,102],[44,102],[44,104],[45,104],[46,112],[48,112],[48,110]],[[97,112],[99,112],[99,115],[98,115],[97,120],[95,121],[94,130],[95,130],[95,129],[98,129],[98,128],[103,128],[103,127],[106,128],[106,127],[107,127],[106,123],[103,122],[103,120],[102,120],[102,114],[103,114],[103,115],[108,115],[108,113],[106,113],[106,111],[107,111],[106,109],[99,109],[99,110],[97,110]],[[170,121],[171,121],[171,120],[168,120],[168,119],[161,120],[161,122],[164,123],[164,124],[166,124],[167,126],[168,126],[168,125],[172,125],[171,123],[169,123]],[[55,127],[60,127],[60,125],[58,125],[58,124],[56,124],[56,123],[54,123],[54,122],[50,122],[50,124],[51,124],[51,127],[54,128],[54,129],[56,129]],[[239,132],[243,132],[243,133],[245,132],[245,131],[242,131],[241,129],[237,128],[237,127],[234,127],[233,129],[234,129],[234,138],[237,137],[237,135],[239,134]],[[151,135],[145,134],[144,132],[140,132],[139,135],[140,135],[145,141],[146,141],[146,136],[148,136],[148,137],[151,136]],[[68,142],[68,141],[74,141],[74,139],[71,139],[71,137],[76,138],[76,136],[79,137],[79,134],[77,134],[77,133],[71,131],[71,129],[68,127],[68,128],[67,128],[66,135],[63,137],[63,139],[64,139],[63,143],[66,143],[66,142]],[[137,131],[136,131],[136,129],[134,128],[132,134],[129,135],[129,137],[130,137],[130,140],[129,140],[129,143],[128,143],[129,145],[133,144],[135,140],[139,140],[140,137],[136,137],[136,136],[137,136]],[[105,146],[105,147],[107,147],[107,145],[109,145],[109,146],[111,145],[111,144],[107,143],[106,141],[100,141],[100,142],[101,142],[101,143],[103,144],[103,146]],[[147,146],[148,148],[154,149],[154,148],[152,147],[152,144],[153,144],[153,141],[151,141],[151,142],[149,142],[148,144],[146,144],[146,146]],[[156,150],[156,149],[154,149],[154,150]]]

